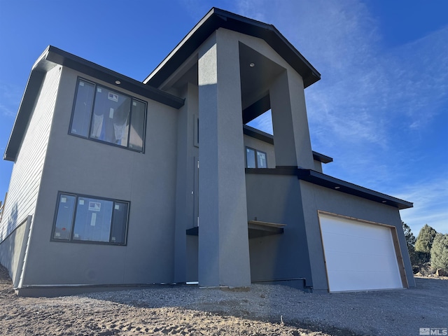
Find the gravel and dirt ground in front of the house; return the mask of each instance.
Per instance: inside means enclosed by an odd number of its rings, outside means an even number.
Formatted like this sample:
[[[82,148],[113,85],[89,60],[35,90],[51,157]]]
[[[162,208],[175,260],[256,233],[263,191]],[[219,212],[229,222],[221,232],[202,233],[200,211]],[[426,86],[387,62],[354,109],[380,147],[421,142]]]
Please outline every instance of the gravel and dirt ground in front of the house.
[[[196,286],[18,297],[0,266],[0,335],[419,335],[448,327],[448,278],[416,288],[303,293]]]

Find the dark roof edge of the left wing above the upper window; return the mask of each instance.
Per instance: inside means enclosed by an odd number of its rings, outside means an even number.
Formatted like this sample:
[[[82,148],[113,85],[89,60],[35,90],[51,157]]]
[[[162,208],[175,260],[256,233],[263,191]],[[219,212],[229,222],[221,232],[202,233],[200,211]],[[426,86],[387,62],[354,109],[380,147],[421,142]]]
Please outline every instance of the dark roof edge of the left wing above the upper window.
[[[104,66],[99,66],[98,64],[94,64],[86,59],[49,45],[31,69],[27,87],[22,96],[22,101],[20,102],[19,110],[15,117],[13,130],[3,155],[4,160],[15,161],[20,144],[25,135],[31,111],[34,108],[38,93],[41,90],[45,73],[58,64],[79,71],[80,73],[85,73],[86,75],[99,80],[103,80],[104,82],[117,87],[117,90],[129,90],[130,92],[134,92],[135,94],[139,94],[148,99],[171,106],[174,109],[180,109],[185,102],[184,99],[158,90],[155,87],[144,85],[138,80],[134,80],[118,72],[107,69]],[[116,84],[116,80],[120,80],[120,85]]]

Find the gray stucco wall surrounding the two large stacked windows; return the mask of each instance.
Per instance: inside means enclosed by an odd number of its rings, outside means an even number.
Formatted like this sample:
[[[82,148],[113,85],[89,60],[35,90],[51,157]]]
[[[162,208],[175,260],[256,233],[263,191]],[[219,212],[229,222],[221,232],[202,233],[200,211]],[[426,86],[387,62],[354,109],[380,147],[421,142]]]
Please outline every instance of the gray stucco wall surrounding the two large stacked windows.
[[[174,277],[177,110],[148,102],[145,153],[68,134],[77,76],[62,70],[23,286],[169,282]],[[57,193],[130,202],[126,246],[50,241]]]

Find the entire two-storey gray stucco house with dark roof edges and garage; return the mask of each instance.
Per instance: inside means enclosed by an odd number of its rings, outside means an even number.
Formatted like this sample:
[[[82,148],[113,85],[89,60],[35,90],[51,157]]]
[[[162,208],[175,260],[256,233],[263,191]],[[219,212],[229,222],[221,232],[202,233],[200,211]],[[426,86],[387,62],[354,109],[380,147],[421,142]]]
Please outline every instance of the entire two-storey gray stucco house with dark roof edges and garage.
[[[323,174],[272,25],[212,8],[143,83],[49,46],[5,160],[0,262],[19,295],[110,286],[415,286],[400,209]],[[274,136],[246,124],[272,111]]]

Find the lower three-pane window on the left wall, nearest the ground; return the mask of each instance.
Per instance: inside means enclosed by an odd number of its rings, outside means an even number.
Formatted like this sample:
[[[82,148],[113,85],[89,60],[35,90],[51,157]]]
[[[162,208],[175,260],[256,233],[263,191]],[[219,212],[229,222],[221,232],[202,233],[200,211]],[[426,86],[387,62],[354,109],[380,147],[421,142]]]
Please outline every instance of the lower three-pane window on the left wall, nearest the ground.
[[[126,244],[129,202],[59,193],[53,241]]]

